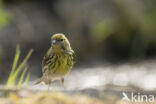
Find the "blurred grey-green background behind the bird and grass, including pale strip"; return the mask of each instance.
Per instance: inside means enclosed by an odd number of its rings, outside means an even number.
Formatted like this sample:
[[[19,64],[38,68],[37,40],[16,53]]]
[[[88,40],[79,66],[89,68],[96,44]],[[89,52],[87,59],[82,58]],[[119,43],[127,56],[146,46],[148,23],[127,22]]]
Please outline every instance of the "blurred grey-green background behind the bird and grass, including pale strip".
[[[156,87],[156,0],[0,0],[0,82],[17,44],[21,60],[34,49],[29,72],[33,81],[41,77],[54,33],[76,52],[67,85]]]

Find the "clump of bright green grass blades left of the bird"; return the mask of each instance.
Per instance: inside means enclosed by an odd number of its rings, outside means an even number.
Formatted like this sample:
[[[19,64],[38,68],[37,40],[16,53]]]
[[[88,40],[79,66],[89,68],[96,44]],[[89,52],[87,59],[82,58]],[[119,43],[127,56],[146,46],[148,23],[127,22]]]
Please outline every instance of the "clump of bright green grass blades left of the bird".
[[[31,49],[28,52],[28,54],[24,58],[24,60],[18,65],[18,61],[19,61],[19,57],[20,57],[21,52],[20,52],[19,45],[16,46],[16,53],[15,53],[12,69],[11,69],[10,75],[9,75],[7,83],[6,83],[7,88],[11,88],[11,87],[21,88],[23,83],[24,83],[24,86],[26,86],[28,84],[29,73],[27,73],[26,64],[27,64],[27,61],[30,58],[32,52],[33,52],[33,49]],[[27,75],[26,75],[26,73],[27,73]],[[19,80],[17,82],[18,76],[19,76]],[[26,78],[24,80],[25,76],[26,76]]]

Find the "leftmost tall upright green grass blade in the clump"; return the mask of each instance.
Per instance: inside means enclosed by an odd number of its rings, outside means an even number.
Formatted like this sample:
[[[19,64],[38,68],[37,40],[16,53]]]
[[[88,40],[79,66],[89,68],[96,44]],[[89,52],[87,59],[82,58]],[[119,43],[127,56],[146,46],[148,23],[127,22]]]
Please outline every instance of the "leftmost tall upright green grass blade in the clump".
[[[13,61],[13,65],[12,65],[12,69],[11,69],[11,72],[10,72],[10,75],[8,77],[8,81],[7,81],[7,86],[10,86],[12,83],[12,76],[14,74],[14,71],[16,69],[16,66],[18,64],[18,60],[19,60],[19,57],[20,57],[20,47],[19,45],[16,46],[16,53],[15,53],[15,57],[14,57],[14,61]]]

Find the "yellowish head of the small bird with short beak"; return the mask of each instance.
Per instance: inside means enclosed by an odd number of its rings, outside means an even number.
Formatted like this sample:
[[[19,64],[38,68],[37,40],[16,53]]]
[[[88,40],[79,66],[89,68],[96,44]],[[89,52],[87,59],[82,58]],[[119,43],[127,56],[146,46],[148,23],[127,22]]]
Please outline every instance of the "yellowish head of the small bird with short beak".
[[[61,52],[71,50],[68,39],[62,33],[54,34],[51,37],[51,45],[52,45],[53,50],[56,53],[61,53]]]

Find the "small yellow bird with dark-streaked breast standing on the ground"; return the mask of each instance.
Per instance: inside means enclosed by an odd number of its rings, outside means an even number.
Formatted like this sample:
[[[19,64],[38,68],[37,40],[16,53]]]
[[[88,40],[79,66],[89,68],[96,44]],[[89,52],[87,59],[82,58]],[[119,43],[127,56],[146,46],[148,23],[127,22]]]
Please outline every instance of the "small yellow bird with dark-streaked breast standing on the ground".
[[[42,77],[34,84],[44,82],[49,90],[53,81],[60,80],[64,86],[64,78],[71,71],[74,63],[75,52],[67,37],[63,33],[52,35],[51,46],[42,60]]]

